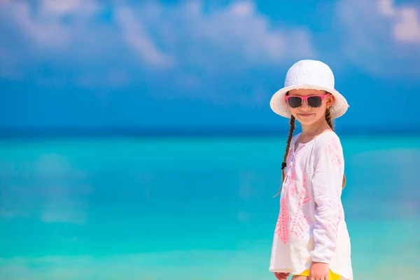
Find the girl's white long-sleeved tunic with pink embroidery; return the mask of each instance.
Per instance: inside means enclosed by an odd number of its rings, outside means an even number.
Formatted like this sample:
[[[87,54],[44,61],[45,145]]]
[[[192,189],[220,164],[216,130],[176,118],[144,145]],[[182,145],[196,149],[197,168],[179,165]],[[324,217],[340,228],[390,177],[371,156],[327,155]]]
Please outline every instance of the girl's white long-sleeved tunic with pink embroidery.
[[[353,279],[349,232],[341,202],[344,156],[335,132],[306,144],[293,137],[280,198],[271,272],[301,274],[326,262],[343,280]]]

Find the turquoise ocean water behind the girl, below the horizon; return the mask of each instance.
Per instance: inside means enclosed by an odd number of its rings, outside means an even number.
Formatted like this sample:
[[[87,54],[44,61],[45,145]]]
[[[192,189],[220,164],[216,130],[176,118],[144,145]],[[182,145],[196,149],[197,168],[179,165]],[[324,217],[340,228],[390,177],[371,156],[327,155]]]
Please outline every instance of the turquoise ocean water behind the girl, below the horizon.
[[[420,275],[420,137],[341,139],[355,279]],[[274,279],[285,141],[2,140],[0,279]]]

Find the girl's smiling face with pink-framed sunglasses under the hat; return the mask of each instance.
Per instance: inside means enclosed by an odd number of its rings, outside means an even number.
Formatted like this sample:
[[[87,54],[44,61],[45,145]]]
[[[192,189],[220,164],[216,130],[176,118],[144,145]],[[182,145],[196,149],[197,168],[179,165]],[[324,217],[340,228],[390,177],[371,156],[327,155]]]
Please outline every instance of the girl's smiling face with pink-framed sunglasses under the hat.
[[[312,125],[325,120],[325,111],[334,100],[332,94],[323,90],[290,90],[286,96],[290,113],[302,125]]]

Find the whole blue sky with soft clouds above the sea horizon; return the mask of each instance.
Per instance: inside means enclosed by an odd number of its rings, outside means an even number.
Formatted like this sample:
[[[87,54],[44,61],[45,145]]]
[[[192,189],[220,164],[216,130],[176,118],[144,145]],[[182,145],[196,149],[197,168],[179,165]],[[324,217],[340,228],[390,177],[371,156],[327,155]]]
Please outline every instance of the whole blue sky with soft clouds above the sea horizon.
[[[0,126],[286,127],[299,59],[335,72],[343,130],[420,127],[416,1],[0,1]]]

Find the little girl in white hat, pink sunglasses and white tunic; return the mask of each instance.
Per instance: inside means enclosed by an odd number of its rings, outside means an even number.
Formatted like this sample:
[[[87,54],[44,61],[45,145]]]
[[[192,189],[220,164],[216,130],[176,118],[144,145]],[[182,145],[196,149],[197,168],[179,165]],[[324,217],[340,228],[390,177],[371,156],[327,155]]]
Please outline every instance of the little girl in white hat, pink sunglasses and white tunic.
[[[290,274],[293,280],[353,279],[341,202],[344,157],[331,122],[349,105],[334,85],[328,65],[301,60],[290,67],[284,87],[270,101],[275,113],[290,118],[269,265],[279,280]],[[302,133],[293,137],[295,120]]]

